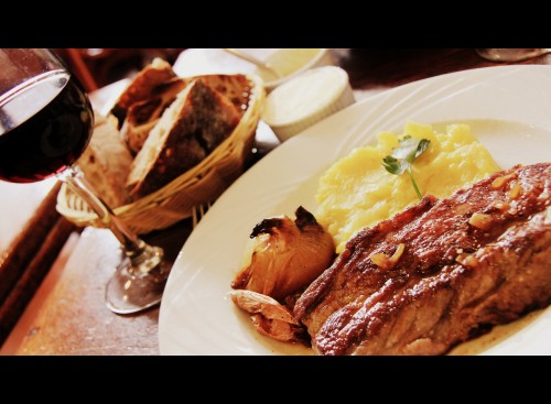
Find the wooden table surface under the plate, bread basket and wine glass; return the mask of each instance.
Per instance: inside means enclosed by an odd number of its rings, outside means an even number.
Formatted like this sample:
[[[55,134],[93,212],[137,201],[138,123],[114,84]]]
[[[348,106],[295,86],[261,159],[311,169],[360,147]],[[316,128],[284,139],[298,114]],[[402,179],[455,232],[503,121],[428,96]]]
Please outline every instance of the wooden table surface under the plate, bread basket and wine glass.
[[[498,65],[483,61],[474,50],[334,50],[333,54],[337,64],[348,72],[357,100],[422,78]],[[522,63],[550,64],[551,55]],[[106,91],[94,96],[105,97]],[[32,194],[31,190],[15,188],[12,186],[9,189],[12,205],[14,198],[26,200],[29,193]],[[7,193],[0,187],[2,196]],[[1,218],[0,229],[4,240],[8,240],[4,244],[17,239],[43,197],[44,189],[42,194],[36,192],[31,203],[26,200],[29,206],[22,210],[10,210]],[[7,211],[6,206],[6,200],[0,200],[1,211]],[[44,209],[52,209],[51,204]],[[53,249],[56,251],[55,262],[0,353],[158,354],[159,308],[141,315],[118,316],[105,307],[105,285],[119,258],[115,238],[106,230],[93,228],[79,233],[63,225],[63,219],[57,217],[55,221],[62,225],[50,227],[51,231],[57,231],[53,238],[57,240],[56,245],[62,240],[64,247],[61,251]],[[144,239],[165,248],[169,259],[174,260],[191,231],[191,220],[183,220],[170,229],[147,234]],[[2,244],[0,248],[8,249]],[[43,272],[46,270],[43,269]]]

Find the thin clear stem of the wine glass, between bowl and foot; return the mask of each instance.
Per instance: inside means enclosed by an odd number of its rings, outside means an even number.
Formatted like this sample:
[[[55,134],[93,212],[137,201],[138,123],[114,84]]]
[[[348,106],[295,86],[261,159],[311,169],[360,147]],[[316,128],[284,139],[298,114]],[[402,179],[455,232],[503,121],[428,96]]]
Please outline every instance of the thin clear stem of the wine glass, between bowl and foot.
[[[83,198],[86,204],[98,215],[106,228],[111,230],[117,240],[122,245],[122,249],[131,260],[138,258],[147,248],[147,244],[141,240],[128,226],[120,220],[111,210],[111,208],[93,190],[91,185],[86,181],[78,167],[69,167],[58,175],[67,186]]]

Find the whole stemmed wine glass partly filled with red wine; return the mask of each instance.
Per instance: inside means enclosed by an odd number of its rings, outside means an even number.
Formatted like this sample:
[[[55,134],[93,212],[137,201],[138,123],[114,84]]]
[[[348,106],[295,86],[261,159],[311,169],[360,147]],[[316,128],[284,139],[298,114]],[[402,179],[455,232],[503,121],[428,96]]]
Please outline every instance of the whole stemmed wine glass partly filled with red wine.
[[[0,179],[32,183],[55,175],[79,195],[123,251],[106,287],[107,307],[138,313],[161,302],[170,266],[163,250],[130,231],[75,165],[93,131],[88,97],[53,52],[0,48]]]

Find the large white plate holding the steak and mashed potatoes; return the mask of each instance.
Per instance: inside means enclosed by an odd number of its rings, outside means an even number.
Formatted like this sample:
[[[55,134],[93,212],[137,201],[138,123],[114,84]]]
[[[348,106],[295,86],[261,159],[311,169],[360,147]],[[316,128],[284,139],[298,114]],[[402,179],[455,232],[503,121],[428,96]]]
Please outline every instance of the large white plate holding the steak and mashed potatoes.
[[[216,201],[183,247],[161,304],[161,353],[311,353],[258,335],[228,298],[247,238],[263,218],[292,215],[299,205],[315,211],[320,175],[376,133],[400,133],[408,119],[471,123],[503,168],[549,162],[551,67],[490,67],[412,83],[357,102],[276,149]],[[551,353],[551,309],[521,325],[487,337],[484,353]]]

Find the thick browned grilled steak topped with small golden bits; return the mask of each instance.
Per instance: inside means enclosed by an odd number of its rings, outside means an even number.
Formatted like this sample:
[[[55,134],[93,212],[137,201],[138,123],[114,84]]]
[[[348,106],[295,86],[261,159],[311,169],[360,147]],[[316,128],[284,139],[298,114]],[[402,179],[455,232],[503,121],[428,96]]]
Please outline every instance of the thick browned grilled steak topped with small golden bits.
[[[441,354],[551,303],[551,164],[365,229],[296,302],[323,354]]]

